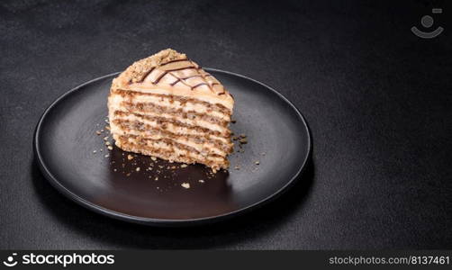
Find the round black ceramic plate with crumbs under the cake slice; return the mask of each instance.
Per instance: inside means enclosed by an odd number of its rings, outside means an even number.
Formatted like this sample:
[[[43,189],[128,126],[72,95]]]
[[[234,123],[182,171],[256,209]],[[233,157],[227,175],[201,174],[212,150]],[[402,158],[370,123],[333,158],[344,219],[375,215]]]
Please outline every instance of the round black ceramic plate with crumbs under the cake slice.
[[[231,129],[248,139],[241,151],[236,142],[229,172],[212,175],[202,165],[181,167],[116,147],[107,149],[106,99],[117,74],[78,86],[44,112],[33,142],[41,171],[75,202],[113,218],[149,225],[221,220],[276,198],[294,183],[310,155],[311,139],[302,114],[267,85],[206,70],[233,94],[237,122]],[[127,158],[129,154],[133,159]]]

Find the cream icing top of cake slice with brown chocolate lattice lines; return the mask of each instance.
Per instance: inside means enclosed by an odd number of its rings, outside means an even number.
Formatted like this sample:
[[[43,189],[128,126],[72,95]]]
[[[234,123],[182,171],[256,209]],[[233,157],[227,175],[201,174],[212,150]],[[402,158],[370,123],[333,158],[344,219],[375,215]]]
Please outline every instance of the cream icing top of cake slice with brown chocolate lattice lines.
[[[233,104],[231,94],[211,74],[174,49],[164,49],[143,58],[113,80],[113,89],[167,89],[172,94],[212,96]]]

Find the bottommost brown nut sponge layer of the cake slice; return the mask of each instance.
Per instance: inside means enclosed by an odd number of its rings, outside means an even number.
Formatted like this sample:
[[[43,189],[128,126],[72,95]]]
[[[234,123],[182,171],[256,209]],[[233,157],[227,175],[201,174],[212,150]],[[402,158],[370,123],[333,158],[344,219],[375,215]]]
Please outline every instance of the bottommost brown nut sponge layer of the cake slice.
[[[213,169],[227,168],[229,162],[224,157],[211,155],[203,157],[196,150],[176,145],[165,140],[141,139],[134,136],[113,135],[113,139],[119,148],[143,155],[160,157],[170,161],[184,163],[202,163]]]

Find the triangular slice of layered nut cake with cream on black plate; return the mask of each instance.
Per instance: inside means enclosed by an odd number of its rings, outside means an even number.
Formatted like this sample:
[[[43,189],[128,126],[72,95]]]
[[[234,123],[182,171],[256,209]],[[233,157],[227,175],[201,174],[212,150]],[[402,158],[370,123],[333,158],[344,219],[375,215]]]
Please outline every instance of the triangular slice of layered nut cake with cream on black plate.
[[[108,96],[117,147],[213,170],[229,166],[233,105],[215,77],[173,49],[133,63]]]

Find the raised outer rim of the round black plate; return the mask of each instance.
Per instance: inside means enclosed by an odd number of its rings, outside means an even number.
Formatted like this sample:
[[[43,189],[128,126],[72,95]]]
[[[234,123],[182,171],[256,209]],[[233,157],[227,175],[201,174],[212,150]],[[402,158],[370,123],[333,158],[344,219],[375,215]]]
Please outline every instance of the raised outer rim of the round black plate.
[[[46,108],[46,110],[42,113],[40,120],[38,121],[38,124],[36,125],[36,128],[34,130],[33,134],[33,153],[34,153],[34,159],[37,161],[38,166],[40,167],[41,173],[44,175],[44,177],[50,182],[50,184],[59,191],[59,193],[62,193],[65,195],[68,199],[70,199],[73,202],[76,202],[78,205],[83,206],[84,208],[95,211],[96,213],[100,213],[104,216],[116,219],[116,220],[123,220],[123,221],[129,221],[133,223],[139,223],[149,226],[156,226],[156,227],[187,227],[187,226],[193,226],[193,225],[202,225],[202,224],[208,224],[220,220],[226,220],[231,219],[232,217],[237,217],[240,215],[243,215],[249,211],[256,210],[264,205],[266,205],[269,202],[275,201],[277,198],[279,198],[282,194],[284,194],[287,190],[292,187],[297,180],[300,178],[299,176],[302,175],[303,171],[306,169],[307,163],[309,158],[312,155],[312,138],[311,138],[311,132],[308,126],[307,121],[305,120],[302,112],[298,110],[298,108],[294,105],[294,103],[290,102],[283,94],[276,91],[274,88],[259,82],[256,79],[250,78],[249,76],[243,76],[231,71],[226,71],[218,68],[212,68],[212,67],[203,67],[203,69],[207,71],[213,71],[213,72],[219,72],[224,73],[230,76],[239,76],[241,78],[250,80],[254,83],[257,83],[258,85],[262,85],[266,87],[268,90],[272,91],[274,94],[278,95],[279,98],[281,98],[285,103],[289,104],[294,111],[296,112],[298,118],[303,122],[304,130],[307,134],[307,143],[308,143],[308,150],[305,154],[305,157],[303,159],[303,163],[301,166],[299,166],[298,170],[292,176],[292,178],[284,184],[282,187],[277,189],[275,192],[269,194],[265,198],[259,200],[258,202],[254,202],[252,204],[249,204],[246,207],[237,209],[235,211],[230,211],[226,213],[222,213],[219,215],[209,216],[209,217],[203,217],[203,218],[194,218],[194,219],[185,219],[185,220],[172,220],[172,219],[155,219],[155,218],[145,218],[140,216],[133,216],[127,213],[123,213],[120,211],[113,211],[110,209],[107,209],[103,206],[97,205],[94,202],[86,201],[86,199],[80,197],[76,193],[73,193],[70,191],[66,186],[59,183],[59,180],[51,174],[50,169],[48,166],[45,165],[44,158],[41,156],[41,142],[40,142],[40,133],[41,133],[41,126],[43,121],[45,121],[46,116],[49,114],[49,112],[52,110],[53,107],[55,107],[61,100],[63,100],[65,97],[67,97],[69,94],[72,94],[79,90],[80,88],[95,83],[96,81],[102,80],[105,77],[109,76],[115,76],[121,73],[120,72],[113,72],[111,74],[107,74],[104,76],[95,77],[94,79],[91,79],[81,85],[77,85],[76,87],[70,89],[68,92],[59,95],[59,97],[54,100],[50,105]]]

